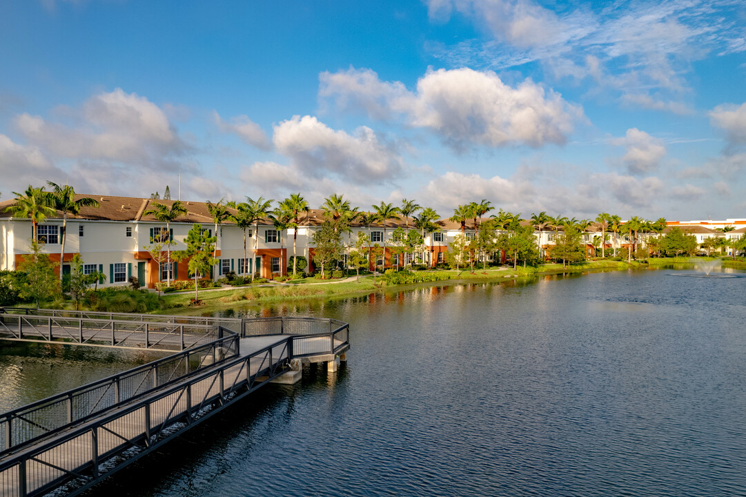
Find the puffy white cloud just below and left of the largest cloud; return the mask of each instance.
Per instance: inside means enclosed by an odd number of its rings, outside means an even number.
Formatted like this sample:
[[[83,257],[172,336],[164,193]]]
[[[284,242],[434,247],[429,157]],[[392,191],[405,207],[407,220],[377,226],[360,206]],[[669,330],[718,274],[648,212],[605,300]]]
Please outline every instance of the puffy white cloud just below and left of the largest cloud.
[[[275,125],[272,141],[305,177],[331,174],[353,181],[382,182],[392,181],[404,170],[393,147],[366,126],[348,134],[313,116],[293,116]]]

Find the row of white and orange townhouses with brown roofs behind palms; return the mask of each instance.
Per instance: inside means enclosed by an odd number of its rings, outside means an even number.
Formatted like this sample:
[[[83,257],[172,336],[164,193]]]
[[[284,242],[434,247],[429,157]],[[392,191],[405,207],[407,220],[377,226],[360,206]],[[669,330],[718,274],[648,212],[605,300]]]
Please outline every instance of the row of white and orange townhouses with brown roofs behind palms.
[[[82,195],[78,198],[83,197]],[[60,261],[60,243],[62,238],[63,219],[61,213],[48,216],[37,228],[37,240],[43,242],[43,251],[51,260],[59,263],[57,271],[69,272],[70,260],[79,254],[83,260],[84,272],[102,272],[100,284],[103,286],[125,285],[131,277],[137,277],[140,286],[155,287],[166,278],[175,280],[189,279],[188,261],[172,260],[171,263],[154,260],[148,249],[159,240],[172,240],[175,245],[172,251],[184,250],[189,230],[195,223],[201,225],[210,235],[216,226],[204,202],[182,201],[186,214],[174,222],[166,224],[154,216],[146,214],[154,204],[173,203],[170,200],[152,200],[120,196],[94,196],[100,207],[83,207],[77,215],[67,216],[67,232],[64,259]],[[17,269],[25,256],[31,253],[31,220],[22,217],[11,217],[5,212],[6,207],[14,200],[0,202],[0,269]],[[230,210],[230,209],[229,209]],[[232,213],[234,211],[231,210]],[[489,218],[468,219],[463,227],[467,239],[473,239],[479,226]],[[311,209],[299,217],[297,229],[279,231],[270,219],[262,219],[257,224],[243,230],[234,222],[225,221],[217,227],[216,257],[218,263],[211,278],[219,278],[228,272],[236,275],[259,273],[262,278],[274,278],[286,275],[289,257],[292,256],[295,239],[296,254],[306,257],[313,272],[313,233],[325,220],[324,211]],[[524,226],[530,222],[523,221]],[[421,250],[413,254],[397,254],[392,250],[395,245],[393,234],[396,228],[416,229],[412,219],[389,219],[386,224],[374,223],[362,225],[354,222],[350,231],[343,234],[345,243],[354,246],[359,232],[365,233],[376,251],[369,260],[369,269],[407,266],[410,263],[437,266],[445,262],[448,246],[462,233],[462,225],[449,219],[435,223],[436,230],[424,232],[424,243]],[[737,229],[728,233],[715,231],[715,228],[733,226]],[[669,222],[666,231],[679,227],[697,237],[703,243],[707,237],[726,237],[735,240],[746,232],[746,219],[727,219],[725,221],[692,221]],[[296,232],[297,231],[297,232]],[[664,231],[664,233],[666,232]],[[551,255],[555,237],[562,232],[559,227],[535,228],[536,242],[545,257]],[[498,231],[499,234],[499,231]],[[639,233],[638,243],[647,245],[646,239],[656,234]],[[258,237],[258,241],[257,241]],[[601,246],[601,225],[593,223],[582,234],[583,244],[589,256],[595,256]],[[254,244],[257,244],[254,253]],[[613,248],[624,248],[632,245],[627,233],[609,234],[604,243],[606,251]],[[383,247],[385,246],[385,249]],[[400,261],[399,257],[403,257]],[[505,254],[501,254],[502,261]],[[343,263],[346,263],[346,256]]]

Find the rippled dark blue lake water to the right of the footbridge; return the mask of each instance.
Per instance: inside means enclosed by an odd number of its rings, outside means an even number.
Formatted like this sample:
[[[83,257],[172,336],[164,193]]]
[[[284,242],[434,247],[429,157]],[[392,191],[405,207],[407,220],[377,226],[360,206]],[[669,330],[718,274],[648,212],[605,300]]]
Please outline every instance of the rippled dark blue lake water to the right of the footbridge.
[[[350,322],[347,365],[252,394],[88,495],[746,495],[746,278],[695,275],[262,310]]]

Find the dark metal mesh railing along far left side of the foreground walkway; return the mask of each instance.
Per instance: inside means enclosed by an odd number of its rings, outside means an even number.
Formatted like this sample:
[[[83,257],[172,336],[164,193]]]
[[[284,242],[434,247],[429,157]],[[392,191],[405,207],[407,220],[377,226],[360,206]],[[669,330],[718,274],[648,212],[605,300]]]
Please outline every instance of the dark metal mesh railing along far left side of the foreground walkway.
[[[0,415],[0,455],[239,354],[228,336]]]

